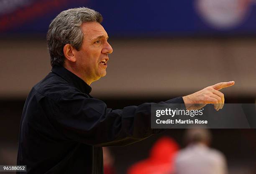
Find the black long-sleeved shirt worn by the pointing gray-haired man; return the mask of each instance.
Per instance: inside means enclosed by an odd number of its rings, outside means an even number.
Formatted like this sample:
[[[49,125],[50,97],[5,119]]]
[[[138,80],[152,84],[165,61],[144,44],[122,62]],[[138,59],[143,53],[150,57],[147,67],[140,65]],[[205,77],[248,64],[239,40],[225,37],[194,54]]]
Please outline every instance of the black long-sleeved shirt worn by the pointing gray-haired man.
[[[112,110],[63,67],[52,68],[28,95],[20,122],[17,165],[27,174],[103,174],[102,146],[145,139],[151,103]],[[182,97],[164,103],[183,103]]]

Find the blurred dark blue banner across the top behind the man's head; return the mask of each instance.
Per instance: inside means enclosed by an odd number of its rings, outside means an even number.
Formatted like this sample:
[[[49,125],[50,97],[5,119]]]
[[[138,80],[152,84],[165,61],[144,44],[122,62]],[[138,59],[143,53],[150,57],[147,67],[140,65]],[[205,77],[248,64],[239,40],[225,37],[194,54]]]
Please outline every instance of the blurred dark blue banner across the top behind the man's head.
[[[61,11],[82,6],[111,36],[256,35],[256,0],[0,0],[0,34],[45,35]]]

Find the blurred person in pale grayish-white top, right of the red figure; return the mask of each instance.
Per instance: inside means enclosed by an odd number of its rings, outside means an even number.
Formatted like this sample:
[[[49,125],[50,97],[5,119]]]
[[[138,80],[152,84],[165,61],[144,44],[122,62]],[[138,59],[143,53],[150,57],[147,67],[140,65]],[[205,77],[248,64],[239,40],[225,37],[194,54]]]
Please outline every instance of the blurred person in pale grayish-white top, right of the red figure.
[[[179,151],[173,174],[228,174],[225,156],[209,147],[209,129],[187,129],[187,147]]]

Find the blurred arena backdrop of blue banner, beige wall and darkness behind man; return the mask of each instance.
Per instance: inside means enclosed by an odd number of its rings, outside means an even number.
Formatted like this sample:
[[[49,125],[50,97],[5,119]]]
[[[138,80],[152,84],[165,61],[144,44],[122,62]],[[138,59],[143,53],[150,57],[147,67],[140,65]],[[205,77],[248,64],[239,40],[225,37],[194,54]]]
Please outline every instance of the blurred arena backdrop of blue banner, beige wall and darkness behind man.
[[[15,164],[18,131],[30,89],[51,71],[46,32],[62,10],[99,11],[113,53],[107,76],[92,96],[118,109],[185,96],[221,81],[225,103],[255,103],[255,0],[0,0],[0,165]],[[139,143],[111,147],[117,174],[148,157],[161,136],[182,143],[172,129]],[[230,174],[256,174],[256,130],[212,129]],[[131,153],[132,152],[132,153]]]

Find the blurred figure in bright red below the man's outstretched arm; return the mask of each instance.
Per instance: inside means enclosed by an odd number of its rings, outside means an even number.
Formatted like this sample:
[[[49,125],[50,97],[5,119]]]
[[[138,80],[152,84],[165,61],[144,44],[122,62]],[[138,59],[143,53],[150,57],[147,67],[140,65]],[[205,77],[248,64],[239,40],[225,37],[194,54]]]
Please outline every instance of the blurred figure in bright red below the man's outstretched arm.
[[[162,137],[151,149],[148,159],[133,164],[128,174],[169,174],[173,171],[173,161],[179,145],[169,137]]]

